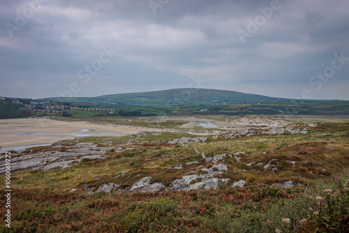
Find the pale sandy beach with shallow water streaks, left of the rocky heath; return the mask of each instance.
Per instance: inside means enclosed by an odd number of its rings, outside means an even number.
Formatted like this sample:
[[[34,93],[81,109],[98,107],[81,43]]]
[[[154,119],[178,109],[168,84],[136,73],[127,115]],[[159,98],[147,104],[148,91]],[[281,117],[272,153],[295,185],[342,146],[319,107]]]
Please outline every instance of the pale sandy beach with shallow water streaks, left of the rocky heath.
[[[144,130],[147,129],[89,122],[54,121],[45,118],[5,119],[0,120],[0,146],[53,143],[86,135],[122,136]]]

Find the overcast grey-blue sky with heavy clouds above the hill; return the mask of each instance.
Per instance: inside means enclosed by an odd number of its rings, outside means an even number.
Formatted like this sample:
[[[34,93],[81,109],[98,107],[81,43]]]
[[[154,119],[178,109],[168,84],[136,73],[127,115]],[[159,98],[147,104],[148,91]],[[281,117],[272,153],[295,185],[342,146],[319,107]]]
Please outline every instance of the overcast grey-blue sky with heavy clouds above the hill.
[[[346,0],[0,0],[0,96],[349,100]]]

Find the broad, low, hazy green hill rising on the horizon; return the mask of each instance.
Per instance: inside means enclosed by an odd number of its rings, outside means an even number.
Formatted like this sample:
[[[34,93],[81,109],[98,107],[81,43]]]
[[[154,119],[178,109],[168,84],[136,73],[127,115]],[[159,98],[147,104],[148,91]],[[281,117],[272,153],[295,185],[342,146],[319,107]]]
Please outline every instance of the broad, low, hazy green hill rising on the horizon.
[[[45,98],[45,100],[58,100],[59,98]],[[265,103],[285,101],[285,98],[242,93],[238,91],[223,91],[216,89],[170,89],[163,91],[148,91],[140,93],[121,93],[87,98],[71,98],[70,103],[107,103],[119,105],[209,105],[209,104],[234,104],[234,103]]]

